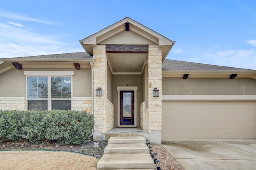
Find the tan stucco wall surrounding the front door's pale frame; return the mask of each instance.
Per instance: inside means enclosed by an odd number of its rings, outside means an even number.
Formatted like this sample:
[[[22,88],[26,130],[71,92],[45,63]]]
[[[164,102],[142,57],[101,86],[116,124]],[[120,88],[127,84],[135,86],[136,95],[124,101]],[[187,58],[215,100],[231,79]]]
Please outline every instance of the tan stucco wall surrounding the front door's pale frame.
[[[142,103],[142,75],[112,75],[112,103],[115,106],[115,126],[117,126],[117,86],[138,86],[137,126],[140,126],[140,104]]]

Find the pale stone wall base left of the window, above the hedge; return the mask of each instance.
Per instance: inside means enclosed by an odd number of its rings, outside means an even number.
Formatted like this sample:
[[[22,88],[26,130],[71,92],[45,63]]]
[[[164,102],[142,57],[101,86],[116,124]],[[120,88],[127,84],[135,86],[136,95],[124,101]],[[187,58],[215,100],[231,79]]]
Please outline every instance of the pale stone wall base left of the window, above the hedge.
[[[0,110],[26,110],[25,98],[0,98]]]

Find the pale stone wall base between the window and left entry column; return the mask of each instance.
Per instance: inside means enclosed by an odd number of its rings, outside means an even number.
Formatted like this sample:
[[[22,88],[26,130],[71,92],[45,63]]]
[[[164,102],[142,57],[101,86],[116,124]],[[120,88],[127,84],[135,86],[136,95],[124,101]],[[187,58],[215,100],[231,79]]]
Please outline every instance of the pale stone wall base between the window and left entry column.
[[[92,100],[72,100],[72,110],[92,113]]]

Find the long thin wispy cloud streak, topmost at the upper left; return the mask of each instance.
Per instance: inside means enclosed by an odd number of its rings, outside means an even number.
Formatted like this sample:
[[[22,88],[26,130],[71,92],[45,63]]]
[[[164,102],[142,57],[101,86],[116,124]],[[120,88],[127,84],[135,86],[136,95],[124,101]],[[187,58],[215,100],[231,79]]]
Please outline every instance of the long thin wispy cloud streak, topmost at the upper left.
[[[24,15],[21,15],[21,14],[15,14],[14,12],[9,12],[9,11],[2,10],[2,9],[0,9],[0,16],[3,17],[3,18],[9,18],[9,19],[13,19],[13,20],[32,21],[32,22],[56,25],[56,23],[54,23],[54,22],[39,20],[39,19],[36,19],[36,18],[31,18],[31,17],[24,16]]]

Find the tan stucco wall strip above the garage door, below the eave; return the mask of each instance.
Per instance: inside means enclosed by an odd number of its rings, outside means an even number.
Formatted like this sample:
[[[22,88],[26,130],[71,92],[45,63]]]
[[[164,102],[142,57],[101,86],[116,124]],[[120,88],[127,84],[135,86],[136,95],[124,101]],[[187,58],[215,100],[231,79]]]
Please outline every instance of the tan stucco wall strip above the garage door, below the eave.
[[[253,78],[162,78],[164,95],[251,95],[256,94]]]

